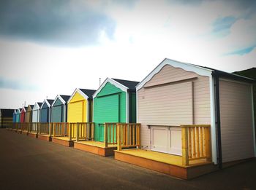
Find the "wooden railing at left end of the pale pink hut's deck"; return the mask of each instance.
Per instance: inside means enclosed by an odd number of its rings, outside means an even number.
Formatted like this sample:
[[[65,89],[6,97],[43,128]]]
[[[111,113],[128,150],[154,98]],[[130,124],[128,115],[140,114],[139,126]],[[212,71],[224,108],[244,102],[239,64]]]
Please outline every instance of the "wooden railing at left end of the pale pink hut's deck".
[[[122,148],[140,148],[140,124],[118,123],[117,124],[117,150]]]

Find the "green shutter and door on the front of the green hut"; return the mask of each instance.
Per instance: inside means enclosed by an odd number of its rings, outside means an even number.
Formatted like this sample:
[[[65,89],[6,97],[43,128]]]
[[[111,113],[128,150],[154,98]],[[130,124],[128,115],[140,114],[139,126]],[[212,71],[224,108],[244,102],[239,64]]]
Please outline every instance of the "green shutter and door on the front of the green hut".
[[[104,123],[119,122],[119,94],[98,97],[95,103],[95,140],[104,140]],[[116,137],[115,137],[116,138]]]

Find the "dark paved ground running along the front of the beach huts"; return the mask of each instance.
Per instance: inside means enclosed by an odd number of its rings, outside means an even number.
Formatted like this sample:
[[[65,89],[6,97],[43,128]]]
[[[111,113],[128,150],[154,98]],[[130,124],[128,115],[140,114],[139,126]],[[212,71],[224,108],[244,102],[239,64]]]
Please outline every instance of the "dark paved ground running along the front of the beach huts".
[[[0,189],[256,189],[256,160],[184,181],[1,129]]]

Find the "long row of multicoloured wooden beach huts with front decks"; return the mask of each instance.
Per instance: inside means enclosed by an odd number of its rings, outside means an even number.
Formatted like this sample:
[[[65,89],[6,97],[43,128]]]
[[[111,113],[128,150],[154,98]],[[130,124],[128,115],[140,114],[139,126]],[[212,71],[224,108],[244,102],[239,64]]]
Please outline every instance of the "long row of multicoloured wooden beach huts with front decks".
[[[76,124],[69,140],[77,149],[193,178],[256,157],[253,83],[165,59],[141,82],[107,78],[98,90],[76,89],[18,108],[13,122]],[[85,123],[93,138],[80,140]]]

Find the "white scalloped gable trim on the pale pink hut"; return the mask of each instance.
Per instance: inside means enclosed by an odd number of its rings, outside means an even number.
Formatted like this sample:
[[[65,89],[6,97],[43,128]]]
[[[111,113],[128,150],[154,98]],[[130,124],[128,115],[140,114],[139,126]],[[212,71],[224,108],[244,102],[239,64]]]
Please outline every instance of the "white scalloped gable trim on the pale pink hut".
[[[148,74],[148,76],[146,76],[145,79],[143,79],[137,86],[136,86],[136,91],[140,90],[140,88],[142,88],[144,86],[144,84],[146,84],[146,82],[148,82],[150,79],[152,79],[152,77],[157,74],[164,66],[166,65],[170,65],[173,66],[175,68],[182,68],[185,71],[192,71],[195,72],[196,74],[199,74],[201,76],[211,76],[211,73],[213,70],[208,69],[208,68],[202,68],[200,66],[195,66],[189,63],[181,63],[178,62],[176,60],[170,60],[165,58],[165,60],[163,60],[156,68],[154,68],[153,71],[151,71],[150,74]]]

